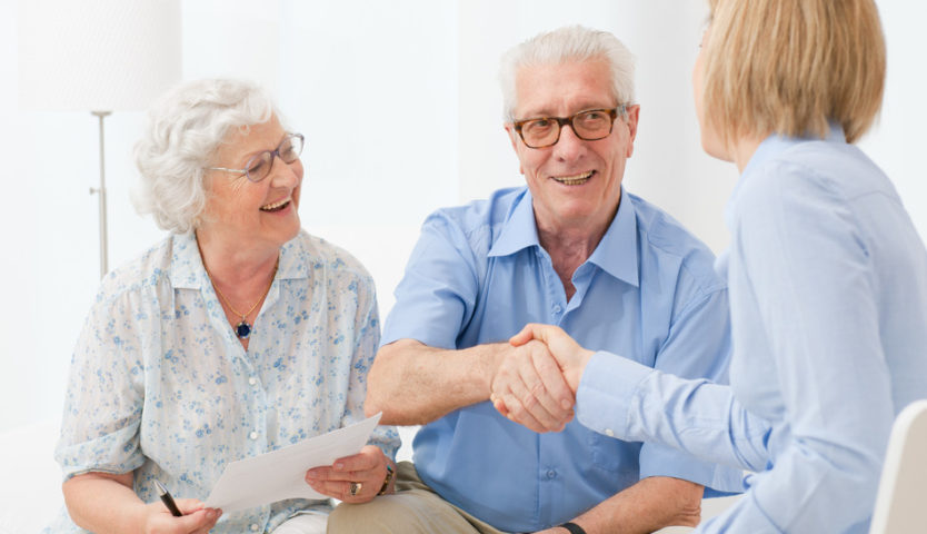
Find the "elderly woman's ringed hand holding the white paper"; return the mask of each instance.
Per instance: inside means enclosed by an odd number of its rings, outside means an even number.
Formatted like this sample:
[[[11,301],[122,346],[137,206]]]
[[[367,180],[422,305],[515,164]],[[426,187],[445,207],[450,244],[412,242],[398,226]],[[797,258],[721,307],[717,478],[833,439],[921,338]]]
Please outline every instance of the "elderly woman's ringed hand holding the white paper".
[[[317,492],[346,503],[366,503],[380,492],[387,476],[387,465],[395,469],[380,447],[367,445],[353,456],[338,458],[327,467],[306,472],[306,483]],[[351,495],[351,485],[355,494]],[[392,487],[387,488],[388,492]]]

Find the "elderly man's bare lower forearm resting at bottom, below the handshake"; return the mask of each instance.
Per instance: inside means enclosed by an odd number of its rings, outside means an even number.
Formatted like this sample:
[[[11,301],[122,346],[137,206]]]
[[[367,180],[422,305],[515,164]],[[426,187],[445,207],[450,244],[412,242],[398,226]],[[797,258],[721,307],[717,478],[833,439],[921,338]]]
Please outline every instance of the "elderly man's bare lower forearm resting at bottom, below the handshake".
[[[602,501],[572,522],[587,534],[634,534],[666,526],[696,526],[701,518],[702,492],[701,485],[689,481],[652,476]]]

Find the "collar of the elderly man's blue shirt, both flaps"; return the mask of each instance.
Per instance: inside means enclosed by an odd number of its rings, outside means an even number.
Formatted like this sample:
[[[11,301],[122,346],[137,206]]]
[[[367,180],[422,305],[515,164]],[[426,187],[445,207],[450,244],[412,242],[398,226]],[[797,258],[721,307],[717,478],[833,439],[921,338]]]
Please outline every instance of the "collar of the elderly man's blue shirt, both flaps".
[[[509,256],[532,246],[540,247],[540,241],[531,192],[526,188],[510,208],[499,238],[489,249],[489,256]],[[587,263],[598,266],[615,278],[638,286],[637,248],[637,214],[622,187],[618,212]]]

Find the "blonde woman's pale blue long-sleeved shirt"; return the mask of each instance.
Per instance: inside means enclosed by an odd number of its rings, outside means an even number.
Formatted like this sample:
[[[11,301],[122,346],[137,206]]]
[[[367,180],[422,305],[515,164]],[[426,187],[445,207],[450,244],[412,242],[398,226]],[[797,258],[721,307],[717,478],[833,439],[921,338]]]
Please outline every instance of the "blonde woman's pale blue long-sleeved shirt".
[[[924,244],[839,128],[764,141],[726,219],[730,387],[598,353],[577,416],[757,472],[699,532],[865,533],[893,419],[927,397]]]

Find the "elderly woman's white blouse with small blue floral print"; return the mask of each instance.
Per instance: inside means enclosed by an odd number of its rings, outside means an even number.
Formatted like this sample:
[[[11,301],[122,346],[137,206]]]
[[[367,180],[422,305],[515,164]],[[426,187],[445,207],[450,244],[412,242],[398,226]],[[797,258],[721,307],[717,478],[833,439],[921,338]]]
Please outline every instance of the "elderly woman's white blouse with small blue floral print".
[[[71,362],[56,458],[64,479],[134,472],[205,501],[226,465],[363,419],[379,342],[373,280],[346,251],[300,233],[280,263],[248,350],[192,234],[170,236],[106,277]],[[371,438],[390,457],[391,427]],[[326,501],[223,514],[213,533],[269,532]],[[48,532],[86,532],[62,512]]]

